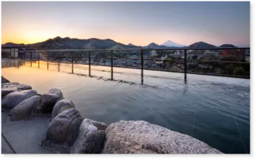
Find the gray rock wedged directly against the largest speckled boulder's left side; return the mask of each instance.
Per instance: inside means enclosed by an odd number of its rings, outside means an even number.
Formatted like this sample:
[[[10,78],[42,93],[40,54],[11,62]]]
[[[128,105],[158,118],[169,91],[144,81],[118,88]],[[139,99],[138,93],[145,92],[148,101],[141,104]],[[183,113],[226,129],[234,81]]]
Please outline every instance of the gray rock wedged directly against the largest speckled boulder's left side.
[[[77,140],[73,143],[70,154],[100,154],[104,147],[104,140],[104,130],[93,125],[92,120],[85,119],[80,125]]]

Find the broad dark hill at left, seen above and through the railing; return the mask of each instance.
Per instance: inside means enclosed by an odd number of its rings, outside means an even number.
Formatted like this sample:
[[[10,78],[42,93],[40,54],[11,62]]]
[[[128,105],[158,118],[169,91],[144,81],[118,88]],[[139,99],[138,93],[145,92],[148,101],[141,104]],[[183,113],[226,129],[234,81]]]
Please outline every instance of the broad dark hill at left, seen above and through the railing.
[[[10,43],[6,43],[6,45]],[[17,45],[12,43],[12,45]],[[69,37],[61,38],[59,36],[54,39],[47,39],[46,41],[40,43],[33,43],[24,45],[25,48],[36,48],[36,50],[86,50],[86,49],[141,49],[141,47],[137,46],[128,46],[122,43],[117,43],[112,39],[70,39]],[[85,51],[77,51],[76,53],[81,56],[87,56],[88,52]],[[126,50],[118,50],[114,52],[115,57],[124,56],[125,54],[139,54],[139,51],[126,51]],[[51,55],[55,55],[56,52],[51,53]],[[70,52],[63,53],[65,56],[69,56]],[[110,55],[110,51],[93,51],[92,56],[95,57],[107,57]]]

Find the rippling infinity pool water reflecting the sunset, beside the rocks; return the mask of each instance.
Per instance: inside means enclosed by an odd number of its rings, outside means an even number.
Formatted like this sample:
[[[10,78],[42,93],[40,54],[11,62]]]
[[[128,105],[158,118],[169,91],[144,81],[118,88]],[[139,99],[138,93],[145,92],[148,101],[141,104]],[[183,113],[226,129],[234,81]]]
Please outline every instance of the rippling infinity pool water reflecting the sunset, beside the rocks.
[[[75,104],[83,117],[111,124],[143,120],[182,132],[226,154],[250,154],[250,80],[145,71],[139,69],[46,62],[0,69],[10,81],[29,84],[39,93],[53,87]]]

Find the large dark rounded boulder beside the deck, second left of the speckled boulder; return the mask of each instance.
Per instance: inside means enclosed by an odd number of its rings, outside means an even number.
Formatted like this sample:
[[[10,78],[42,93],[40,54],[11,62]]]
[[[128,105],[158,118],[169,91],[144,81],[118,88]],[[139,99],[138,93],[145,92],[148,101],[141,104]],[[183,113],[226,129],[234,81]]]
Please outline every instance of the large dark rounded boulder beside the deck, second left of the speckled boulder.
[[[76,109],[65,110],[59,113],[47,128],[46,139],[42,144],[72,146],[77,139],[82,117]]]

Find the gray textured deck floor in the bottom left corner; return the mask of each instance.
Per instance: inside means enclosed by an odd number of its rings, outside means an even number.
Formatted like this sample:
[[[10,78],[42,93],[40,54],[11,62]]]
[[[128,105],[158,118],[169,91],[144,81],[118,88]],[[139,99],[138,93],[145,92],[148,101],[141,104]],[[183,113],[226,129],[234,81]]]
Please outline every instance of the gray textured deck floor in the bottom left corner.
[[[24,121],[8,121],[8,113],[0,113],[1,154],[54,154],[40,146],[46,135],[49,116]]]

